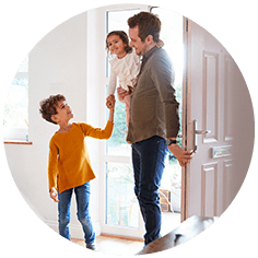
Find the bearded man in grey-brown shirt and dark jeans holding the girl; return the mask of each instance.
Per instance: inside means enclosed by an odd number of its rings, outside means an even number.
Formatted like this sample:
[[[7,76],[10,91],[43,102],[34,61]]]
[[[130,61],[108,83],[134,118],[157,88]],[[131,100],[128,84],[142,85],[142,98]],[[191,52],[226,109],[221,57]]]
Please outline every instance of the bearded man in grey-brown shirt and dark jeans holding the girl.
[[[142,56],[141,70],[131,95],[127,141],[132,143],[134,191],[145,223],[145,245],[160,237],[161,184],[167,146],[185,166],[191,153],[176,144],[179,130],[174,68],[160,40],[161,21],[141,12],[128,20],[130,46]],[[118,89],[119,98],[128,94]],[[107,102],[109,99],[107,98]]]

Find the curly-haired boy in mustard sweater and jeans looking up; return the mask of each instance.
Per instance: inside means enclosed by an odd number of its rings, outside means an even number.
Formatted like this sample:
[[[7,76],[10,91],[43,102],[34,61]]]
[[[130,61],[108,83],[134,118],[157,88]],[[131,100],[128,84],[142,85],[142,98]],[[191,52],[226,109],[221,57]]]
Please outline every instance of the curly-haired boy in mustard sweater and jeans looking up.
[[[115,98],[113,98],[115,103]],[[86,248],[96,250],[95,233],[89,214],[90,180],[95,178],[84,143],[85,137],[109,139],[114,127],[114,108],[104,130],[84,122],[70,122],[72,110],[63,95],[50,96],[40,102],[44,119],[59,126],[49,142],[48,180],[50,198],[58,202],[59,234],[70,241],[69,223],[71,196],[74,190],[78,219],[82,224]]]

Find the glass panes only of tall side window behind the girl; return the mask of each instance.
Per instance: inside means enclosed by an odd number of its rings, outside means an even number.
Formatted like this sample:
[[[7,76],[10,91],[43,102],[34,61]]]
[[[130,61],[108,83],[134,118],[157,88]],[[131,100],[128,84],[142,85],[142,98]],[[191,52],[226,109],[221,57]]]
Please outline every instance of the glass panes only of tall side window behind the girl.
[[[128,34],[127,20],[140,10],[108,11],[106,13],[106,33],[124,31]],[[106,75],[109,75],[107,60]],[[117,83],[117,85],[119,85]],[[107,160],[120,160],[106,163],[106,224],[114,226],[138,227],[139,208],[133,192],[133,171],[131,165],[131,146],[126,142],[126,106],[116,95],[116,112],[113,136],[106,145]]]

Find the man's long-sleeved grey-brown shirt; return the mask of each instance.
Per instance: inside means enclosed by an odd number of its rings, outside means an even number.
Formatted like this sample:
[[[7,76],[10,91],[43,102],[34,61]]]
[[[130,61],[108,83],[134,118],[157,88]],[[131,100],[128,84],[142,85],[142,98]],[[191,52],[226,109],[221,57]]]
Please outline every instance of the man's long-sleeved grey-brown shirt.
[[[154,47],[143,66],[131,95],[127,140],[131,143],[153,136],[176,138],[179,130],[175,71],[166,51]]]

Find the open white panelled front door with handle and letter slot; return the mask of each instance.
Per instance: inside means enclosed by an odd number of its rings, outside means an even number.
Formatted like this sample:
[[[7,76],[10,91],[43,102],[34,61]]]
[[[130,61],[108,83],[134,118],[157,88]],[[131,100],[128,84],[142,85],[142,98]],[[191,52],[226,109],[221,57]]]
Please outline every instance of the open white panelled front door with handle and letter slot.
[[[254,109],[245,79],[222,43],[199,24],[186,21],[184,139],[187,149],[196,148],[196,153],[184,178],[184,219],[220,216],[236,197],[249,168]]]

